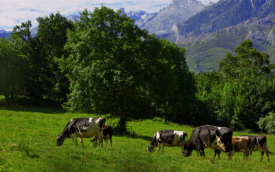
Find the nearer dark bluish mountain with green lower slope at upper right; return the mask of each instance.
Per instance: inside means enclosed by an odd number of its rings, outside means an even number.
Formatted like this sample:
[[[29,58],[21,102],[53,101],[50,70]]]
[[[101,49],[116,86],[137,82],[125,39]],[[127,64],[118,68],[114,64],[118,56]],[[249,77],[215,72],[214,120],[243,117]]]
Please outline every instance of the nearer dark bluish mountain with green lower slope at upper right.
[[[177,28],[177,43],[186,48],[195,72],[217,69],[226,52],[245,39],[275,62],[275,0],[220,0]]]

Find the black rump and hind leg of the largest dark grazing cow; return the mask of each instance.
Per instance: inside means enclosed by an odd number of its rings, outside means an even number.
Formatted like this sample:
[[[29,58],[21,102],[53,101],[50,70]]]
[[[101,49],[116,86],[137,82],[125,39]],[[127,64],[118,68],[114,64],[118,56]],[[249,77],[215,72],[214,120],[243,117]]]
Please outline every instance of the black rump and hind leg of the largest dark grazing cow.
[[[222,151],[228,154],[228,158],[232,154],[232,135],[233,131],[225,127],[216,130],[217,144]]]

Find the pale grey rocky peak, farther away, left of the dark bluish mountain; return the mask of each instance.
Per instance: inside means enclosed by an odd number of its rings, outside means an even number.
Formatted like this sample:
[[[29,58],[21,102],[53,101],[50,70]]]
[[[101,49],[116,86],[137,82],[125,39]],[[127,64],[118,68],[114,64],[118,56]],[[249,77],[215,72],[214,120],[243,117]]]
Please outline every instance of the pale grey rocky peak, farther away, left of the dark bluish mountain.
[[[155,33],[158,37],[174,41],[178,34],[177,23],[186,21],[204,8],[205,6],[197,0],[173,0],[141,28],[148,30],[150,34]]]

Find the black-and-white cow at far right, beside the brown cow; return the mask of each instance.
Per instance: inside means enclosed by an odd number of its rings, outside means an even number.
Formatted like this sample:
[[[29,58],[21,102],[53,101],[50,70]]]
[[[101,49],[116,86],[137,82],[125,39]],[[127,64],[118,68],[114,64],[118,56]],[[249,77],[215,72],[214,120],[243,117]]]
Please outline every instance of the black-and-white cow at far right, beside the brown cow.
[[[267,149],[267,138],[265,137],[265,135],[259,135],[259,136],[247,135],[247,136],[252,141],[250,155],[252,154],[252,151],[260,151],[261,152],[261,160],[263,160],[263,154],[265,153],[267,155],[267,161],[270,161],[269,154],[273,155],[274,153],[270,152]]]

